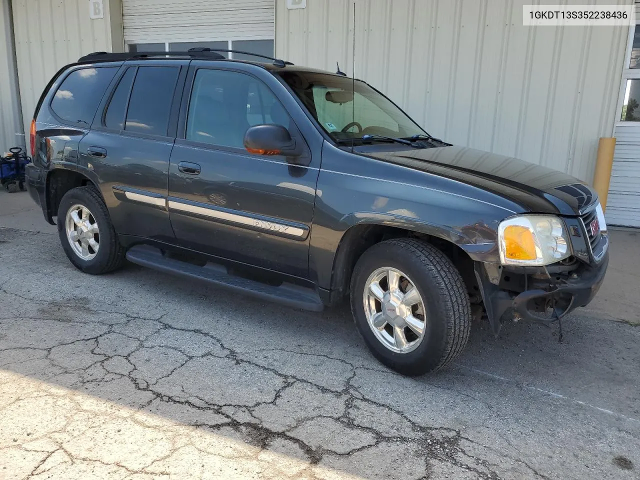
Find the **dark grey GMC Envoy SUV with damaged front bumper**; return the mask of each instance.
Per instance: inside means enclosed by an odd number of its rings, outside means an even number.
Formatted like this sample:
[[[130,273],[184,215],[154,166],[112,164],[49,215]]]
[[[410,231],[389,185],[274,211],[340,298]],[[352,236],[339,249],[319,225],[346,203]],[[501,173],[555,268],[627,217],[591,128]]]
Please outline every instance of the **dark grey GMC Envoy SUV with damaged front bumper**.
[[[460,355],[472,317],[560,324],[595,296],[609,239],[586,184],[433,138],[342,72],[218,52],[97,52],[45,88],[28,188],[76,268],[314,311],[349,296],[408,375]]]

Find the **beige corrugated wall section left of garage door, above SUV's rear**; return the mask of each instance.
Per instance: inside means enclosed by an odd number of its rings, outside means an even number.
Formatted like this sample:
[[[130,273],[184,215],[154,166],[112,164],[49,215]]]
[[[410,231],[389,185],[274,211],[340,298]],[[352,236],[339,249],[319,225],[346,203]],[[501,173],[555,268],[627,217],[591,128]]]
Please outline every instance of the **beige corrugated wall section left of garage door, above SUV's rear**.
[[[122,44],[111,35],[109,4],[118,9],[119,16],[119,1],[104,0],[104,19],[90,20],[86,0],[13,0],[25,131],[29,131],[40,93],[61,67],[90,52],[114,51]]]

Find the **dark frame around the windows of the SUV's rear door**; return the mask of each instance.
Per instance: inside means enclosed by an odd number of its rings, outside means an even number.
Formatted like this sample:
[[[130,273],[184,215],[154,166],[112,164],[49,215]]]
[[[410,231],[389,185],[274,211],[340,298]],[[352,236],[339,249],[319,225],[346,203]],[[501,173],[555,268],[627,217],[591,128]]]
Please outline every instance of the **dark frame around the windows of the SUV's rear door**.
[[[126,61],[122,64],[120,71],[114,77],[114,81],[111,82],[108,88],[108,95],[104,95],[102,98],[102,102],[96,112],[96,116],[93,118],[92,130],[115,133],[118,135],[124,135],[131,138],[146,138],[148,140],[162,140],[162,141],[173,141],[175,140],[177,125],[178,125],[178,116],[180,111],[180,99],[182,97],[182,89],[184,88],[184,80],[186,79],[188,67],[190,60],[140,60],[140,61]],[[130,130],[125,130],[125,123],[123,122],[122,129],[113,129],[106,126],[105,116],[107,114],[107,109],[109,108],[109,104],[111,103],[111,99],[115,94],[116,88],[120,84],[122,77],[124,77],[128,68],[136,68],[136,72],[134,72],[133,81],[131,82],[131,87],[129,88],[129,95],[127,96],[127,107],[124,112],[124,120],[127,118],[127,113],[129,112],[129,102],[131,100],[131,93],[133,91],[133,86],[136,83],[136,77],[138,76],[138,70],[140,67],[175,67],[179,68],[178,77],[175,83],[175,87],[173,90],[172,103],[169,109],[169,123],[167,128],[166,135],[156,135],[156,134],[148,134],[144,132],[134,132]]]

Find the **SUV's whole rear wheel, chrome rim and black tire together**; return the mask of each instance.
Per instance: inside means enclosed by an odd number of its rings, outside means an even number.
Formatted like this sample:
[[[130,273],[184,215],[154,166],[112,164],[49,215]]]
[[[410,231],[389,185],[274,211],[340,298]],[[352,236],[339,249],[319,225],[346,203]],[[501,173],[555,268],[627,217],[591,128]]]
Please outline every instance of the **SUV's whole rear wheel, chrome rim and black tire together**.
[[[58,235],[68,259],[85,273],[107,273],[124,262],[107,207],[92,186],[70,189],[62,197]]]

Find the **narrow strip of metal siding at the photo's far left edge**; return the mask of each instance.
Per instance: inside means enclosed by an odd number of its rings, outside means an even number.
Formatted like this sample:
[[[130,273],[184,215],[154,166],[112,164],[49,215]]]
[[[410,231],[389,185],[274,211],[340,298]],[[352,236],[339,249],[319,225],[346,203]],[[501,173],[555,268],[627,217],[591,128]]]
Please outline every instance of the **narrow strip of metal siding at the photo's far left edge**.
[[[11,9],[6,0],[0,4],[0,27],[0,155],[3,155],[10,147],[25,146],[13,58]]]

